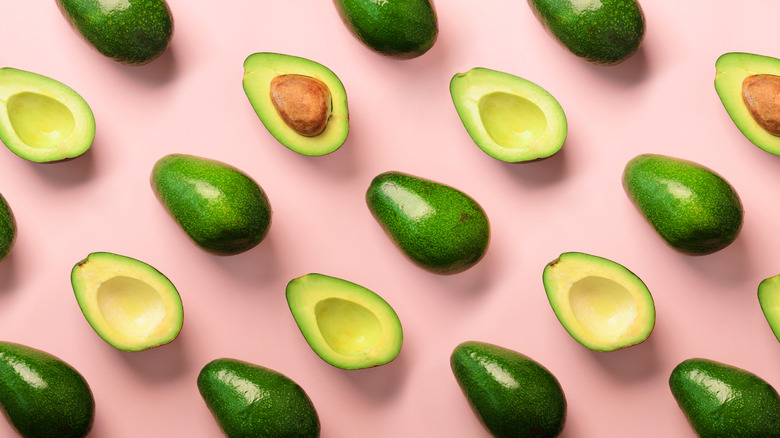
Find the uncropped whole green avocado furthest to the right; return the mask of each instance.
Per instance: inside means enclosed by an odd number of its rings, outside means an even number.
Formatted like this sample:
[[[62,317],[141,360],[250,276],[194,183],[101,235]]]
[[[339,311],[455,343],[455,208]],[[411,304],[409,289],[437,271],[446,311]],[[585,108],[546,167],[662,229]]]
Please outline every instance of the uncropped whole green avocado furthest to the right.
[[[742,202],[711,169],[681,158],[642,154],[623,171],[623,187],[674,249],[706,255],[730,245],[742,228]]]

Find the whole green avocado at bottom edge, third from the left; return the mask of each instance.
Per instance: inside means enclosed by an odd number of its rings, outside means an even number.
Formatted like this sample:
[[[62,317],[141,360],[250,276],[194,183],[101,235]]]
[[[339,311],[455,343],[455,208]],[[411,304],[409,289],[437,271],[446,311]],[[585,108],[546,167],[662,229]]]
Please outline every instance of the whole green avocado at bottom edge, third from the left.
[[[560,435],[566,396],[558,379],[530,357],[486,342],[452,351],[455,380],[482,424],[496,438]]]

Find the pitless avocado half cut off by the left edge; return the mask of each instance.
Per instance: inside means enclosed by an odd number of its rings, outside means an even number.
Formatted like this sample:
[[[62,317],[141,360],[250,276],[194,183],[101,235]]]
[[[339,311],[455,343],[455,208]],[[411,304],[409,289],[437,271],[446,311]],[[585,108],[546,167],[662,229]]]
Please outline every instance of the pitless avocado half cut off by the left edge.
[[[0,141],[33,162],[75,158],[95,139],[95,116],[72,88],[37,73],[0,68]]]

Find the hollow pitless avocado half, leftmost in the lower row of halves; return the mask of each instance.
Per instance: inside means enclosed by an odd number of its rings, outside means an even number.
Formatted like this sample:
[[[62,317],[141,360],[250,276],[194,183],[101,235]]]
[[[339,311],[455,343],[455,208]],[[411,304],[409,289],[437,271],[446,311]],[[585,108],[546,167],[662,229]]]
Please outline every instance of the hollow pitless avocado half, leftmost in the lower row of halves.
[[[70,280],[87,322],[119,350],[167,344],[181,331],[179,292],[168,277],[140,260],[94,252],[73,267]]]

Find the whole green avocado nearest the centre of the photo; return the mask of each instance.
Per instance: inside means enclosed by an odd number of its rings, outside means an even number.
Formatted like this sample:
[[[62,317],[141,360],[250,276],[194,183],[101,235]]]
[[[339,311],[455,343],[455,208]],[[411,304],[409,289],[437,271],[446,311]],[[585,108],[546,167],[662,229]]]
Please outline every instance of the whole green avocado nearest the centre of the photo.
[[[454,187],[390,171],[371,181],[366,204],[401,252],[435,274],[463,272],[487,252],[487,214]]]

